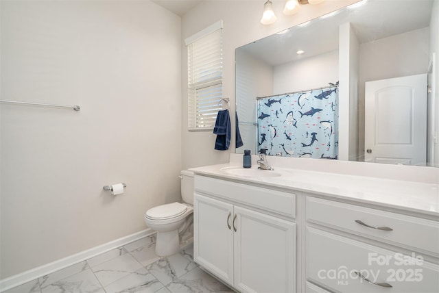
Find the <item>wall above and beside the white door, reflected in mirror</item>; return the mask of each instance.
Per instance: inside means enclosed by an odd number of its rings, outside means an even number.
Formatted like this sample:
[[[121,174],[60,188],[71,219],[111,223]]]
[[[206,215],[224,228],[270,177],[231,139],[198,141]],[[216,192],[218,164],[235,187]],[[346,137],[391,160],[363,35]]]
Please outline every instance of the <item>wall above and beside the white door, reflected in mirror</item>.
[[[359,46],[359,153],[364,151],[366,81],[427,73],[429,27]]]

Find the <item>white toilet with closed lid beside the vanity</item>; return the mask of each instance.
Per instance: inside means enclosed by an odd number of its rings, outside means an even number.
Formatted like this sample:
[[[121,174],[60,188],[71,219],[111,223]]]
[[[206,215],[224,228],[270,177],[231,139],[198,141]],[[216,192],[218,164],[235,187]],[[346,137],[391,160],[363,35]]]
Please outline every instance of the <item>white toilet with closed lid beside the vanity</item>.
[[[167,256],[180,249],[179,233],[193,223],[193,172],[181,171],[181,196],[185,203],[168,203],[152,207],[145,213],[147,227],[157,231],[156,255]]]

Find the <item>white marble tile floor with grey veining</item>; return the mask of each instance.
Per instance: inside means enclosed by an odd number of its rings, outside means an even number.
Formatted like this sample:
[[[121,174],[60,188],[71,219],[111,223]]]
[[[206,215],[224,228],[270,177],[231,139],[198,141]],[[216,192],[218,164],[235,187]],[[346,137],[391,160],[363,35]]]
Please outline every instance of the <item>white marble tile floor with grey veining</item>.
[[[58,270],[4,293],[233,292],[193,262],[193,246],[155,254],[155,235]]]

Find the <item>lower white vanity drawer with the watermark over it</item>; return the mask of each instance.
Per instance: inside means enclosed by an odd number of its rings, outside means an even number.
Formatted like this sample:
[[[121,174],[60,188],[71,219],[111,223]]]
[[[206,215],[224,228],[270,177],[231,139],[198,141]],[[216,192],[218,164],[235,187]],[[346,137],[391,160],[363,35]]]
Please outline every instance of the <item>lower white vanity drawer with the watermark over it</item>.
[[[337,292],[439,292],[439,266],[412,256],[307,228],[307,280]]]

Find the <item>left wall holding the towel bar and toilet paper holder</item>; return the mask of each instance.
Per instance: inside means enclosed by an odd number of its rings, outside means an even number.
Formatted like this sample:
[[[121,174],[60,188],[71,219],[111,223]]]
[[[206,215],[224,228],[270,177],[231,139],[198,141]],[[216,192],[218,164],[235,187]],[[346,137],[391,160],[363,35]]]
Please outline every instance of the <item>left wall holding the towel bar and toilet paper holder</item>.
[[[181,19],[150,1],[1,1],[1,279],[180,199]],[[125,194],[102,187],[126,182]]]

